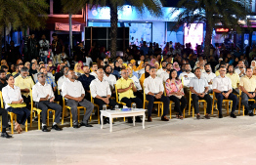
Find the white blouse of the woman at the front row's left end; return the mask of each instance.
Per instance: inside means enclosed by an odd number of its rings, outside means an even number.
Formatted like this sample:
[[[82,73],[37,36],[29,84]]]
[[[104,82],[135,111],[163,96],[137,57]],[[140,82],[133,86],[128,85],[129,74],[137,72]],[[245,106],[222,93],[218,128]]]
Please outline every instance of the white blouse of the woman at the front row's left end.
[[[5,86],[2,89],[2,95],[5,103],[5,108],[10,107],[8,103],[20,101],[22,99],[21,89],[17,86],[14,86],[14,88],[10,87],[9,85]]]

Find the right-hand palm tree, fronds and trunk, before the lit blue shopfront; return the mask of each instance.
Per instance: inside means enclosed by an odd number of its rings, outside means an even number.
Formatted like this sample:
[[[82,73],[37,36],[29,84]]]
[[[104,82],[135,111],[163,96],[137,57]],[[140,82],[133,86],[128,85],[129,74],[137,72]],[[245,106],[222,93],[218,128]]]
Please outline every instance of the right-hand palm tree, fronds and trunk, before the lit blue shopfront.
[[[243,30],[242,26],[246,25],[243,22],[250,24],[246,18],[250,13],[247,0],[239,2],[234,0],[181,0],[178,7],[181,13],[177,17],[177,25],[205,23],[204,55],[206,56],[210,55],[212,31],[219,24],[226,28],[233,28],[237,32]]]

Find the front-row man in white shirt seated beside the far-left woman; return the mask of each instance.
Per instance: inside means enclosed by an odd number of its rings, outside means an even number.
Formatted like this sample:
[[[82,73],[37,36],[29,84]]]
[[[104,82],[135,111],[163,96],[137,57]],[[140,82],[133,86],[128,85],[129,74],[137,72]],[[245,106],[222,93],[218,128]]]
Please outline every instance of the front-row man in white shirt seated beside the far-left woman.
[[[38,73],[37,79],[38,82],[32,88],[32,95],[35,106],[42,110],[42,131],[49,132],[46,126],[48,108],[55,110],[55,121],[53,123],[52,129],[56,131],[62,131],[62,129],[59,128],[57,125],[58,123],[60,123],[62,106],[58,103],[54,103],[54,92],[51,85],[46,83],[46,77],[44,73]]]

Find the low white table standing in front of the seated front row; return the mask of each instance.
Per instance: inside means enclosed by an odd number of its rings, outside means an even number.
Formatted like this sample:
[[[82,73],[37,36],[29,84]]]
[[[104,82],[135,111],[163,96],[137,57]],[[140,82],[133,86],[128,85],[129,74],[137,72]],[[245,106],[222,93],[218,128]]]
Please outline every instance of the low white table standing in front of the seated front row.
[[[112,119],[117,117],[133,117],[133,126],[135,126],[135,116],[143,116],[143,129],[145,129],[145,111],[146,109],[136,108],[130,111],[118,111],[118,110],[101,110],[101,122],[102,127],[104,128],[104,120],[103,117],[109,117],[109,124],[110,124],[110,132],[112,132]]]

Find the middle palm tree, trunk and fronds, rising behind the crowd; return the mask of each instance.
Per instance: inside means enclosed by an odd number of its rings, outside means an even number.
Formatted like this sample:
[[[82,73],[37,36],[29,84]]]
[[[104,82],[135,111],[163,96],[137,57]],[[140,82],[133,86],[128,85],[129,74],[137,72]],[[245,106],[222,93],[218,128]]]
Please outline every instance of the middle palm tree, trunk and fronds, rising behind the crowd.
[[[160,17],[162,15],[161,7],[163,3],[164,0],[63,0],[64,12],[71,14],[76,14],[87,4],[91,5],[91,7],[96,6],[110,8],[110,54],[111,58],[113,59],[116,56],[116,38],[118,22],[117,10],[124,5],[131,5],[141,13],[143,13],[145,9],[148,9],[150,14],[156,17]]]

